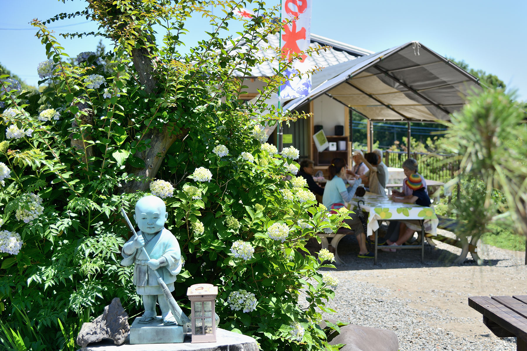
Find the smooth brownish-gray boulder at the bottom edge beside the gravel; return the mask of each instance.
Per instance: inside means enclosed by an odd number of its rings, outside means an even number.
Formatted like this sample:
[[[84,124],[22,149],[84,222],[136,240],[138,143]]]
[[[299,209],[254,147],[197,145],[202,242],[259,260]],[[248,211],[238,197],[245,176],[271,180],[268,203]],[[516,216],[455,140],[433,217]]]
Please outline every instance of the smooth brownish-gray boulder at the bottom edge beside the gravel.
[[[331,323],[335,320],[328,319]],[[326,327],[326,323],[320,324],[321,328]],[[397,351],[399,340],[392,330],[362,327],[359,325],[348,324],[340,327],[340,334],[334,332],[328,339],[330,345],[345,344],[341,351]]]

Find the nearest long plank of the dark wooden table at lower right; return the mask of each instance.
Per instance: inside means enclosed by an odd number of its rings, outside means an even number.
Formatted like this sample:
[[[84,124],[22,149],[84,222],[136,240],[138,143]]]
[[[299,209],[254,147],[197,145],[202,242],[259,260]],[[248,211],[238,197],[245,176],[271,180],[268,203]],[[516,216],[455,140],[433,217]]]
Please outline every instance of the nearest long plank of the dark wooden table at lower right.
[[[471,296],[469,297],[469,306],[516,335],[516,337],[527,340],[527,320],[491,297]]]

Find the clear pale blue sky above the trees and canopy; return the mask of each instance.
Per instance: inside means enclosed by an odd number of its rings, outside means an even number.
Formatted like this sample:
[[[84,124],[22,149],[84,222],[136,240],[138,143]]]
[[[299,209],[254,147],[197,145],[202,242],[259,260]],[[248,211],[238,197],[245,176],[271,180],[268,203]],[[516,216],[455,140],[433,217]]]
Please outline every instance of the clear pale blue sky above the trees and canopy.
[[[277,0],[267,2],[277,4]],[[0,22],[0,63],[36,85],[36,66],[44,61],[45,49],[34,36],[33,18],[47,19],[58,13],[83,9],[84,1],[0,0],[4,15]],[[314,0],[311,32],[366,48],[374,52],[417,40],[438,54],[464,59],[471,67],[483,69],[501,78],[508,89],[518,89],[518,98],[527,101],[527,46],[525,25],[527,1],[393,1]],[[90,32],[94,23],[73,18],[50,24],[57,33]],[[207,22],[195,18],[189,23],[190,34],[184,39],[195,43],[210,29]],[[99,38],[58,41],[65,52],[76,56],[94,51]],[[109,47],[109,42],[105,43]]]

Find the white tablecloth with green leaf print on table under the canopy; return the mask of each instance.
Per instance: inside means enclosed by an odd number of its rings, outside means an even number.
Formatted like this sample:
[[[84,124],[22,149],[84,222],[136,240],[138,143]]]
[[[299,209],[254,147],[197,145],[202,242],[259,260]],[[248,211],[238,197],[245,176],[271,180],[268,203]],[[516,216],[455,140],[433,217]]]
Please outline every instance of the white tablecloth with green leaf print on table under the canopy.
[[[372,235],[379,228],[378,221],[383,219],[423,219],[426,222],[426,233],[435,234],[436,232],[439,220],[432,206],[424,207],[415,204],[394,202],[386,196],[366,193],[363,197],[355,196],[347,207],[352,210],[357,210],[357,202],[359,200],[364,201],[364,205],[360,203],[360,208],[368,212],[367,236]]]

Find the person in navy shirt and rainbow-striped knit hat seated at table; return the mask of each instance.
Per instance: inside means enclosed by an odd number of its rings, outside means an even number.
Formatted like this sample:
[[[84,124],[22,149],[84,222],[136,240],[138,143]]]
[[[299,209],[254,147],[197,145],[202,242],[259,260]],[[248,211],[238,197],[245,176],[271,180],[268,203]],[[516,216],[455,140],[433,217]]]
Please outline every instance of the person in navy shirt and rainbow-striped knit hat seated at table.
[[[406,187],[409,190],[403,190],[404,193],[393,194],[392,200],[394,202],[412,203],[419,206],[430,207],[430,197],[428,196],[428,192],[426,191],[424,179],[422,178],[422,176],[414,171],[411,171],[406,167],[403,167],[403,169],[404,174],[407,176],[407,178],[404,180],[403,189]],[[409,192],[411,192],[411,194],[405,195]],[[398,239],[395,242],[392,242],[392,240],[388,239],[386,240],[386,244],[388,246],[403,245],[406,240],[408,240],[414,235],[414,232],[418,229],[418,227],[421,227],[421,223],[419,222],[419,220],[401,221]],[[396,251],[394,248],[386,248],[382,250],[387,252]]]

